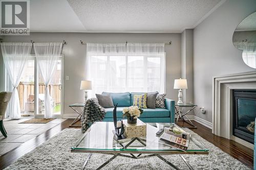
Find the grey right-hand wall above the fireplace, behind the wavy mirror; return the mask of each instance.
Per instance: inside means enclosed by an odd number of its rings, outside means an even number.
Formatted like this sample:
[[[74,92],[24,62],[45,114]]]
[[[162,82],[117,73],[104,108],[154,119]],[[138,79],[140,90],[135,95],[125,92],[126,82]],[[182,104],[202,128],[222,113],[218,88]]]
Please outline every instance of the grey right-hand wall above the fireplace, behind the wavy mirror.
[[[194,102],[204,106],[196,116],[211,122],[212,76],[255,70],[232,44],[239,23],[256,11],[255,0],[227,0],[194,29]]]

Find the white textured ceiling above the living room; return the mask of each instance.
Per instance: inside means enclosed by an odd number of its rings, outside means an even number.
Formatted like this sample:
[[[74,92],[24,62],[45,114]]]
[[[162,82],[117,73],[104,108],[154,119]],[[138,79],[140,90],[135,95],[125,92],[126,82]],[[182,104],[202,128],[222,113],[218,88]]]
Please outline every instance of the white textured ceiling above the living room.
[[[181,33],[225,0],[30,1],[31,32]]]

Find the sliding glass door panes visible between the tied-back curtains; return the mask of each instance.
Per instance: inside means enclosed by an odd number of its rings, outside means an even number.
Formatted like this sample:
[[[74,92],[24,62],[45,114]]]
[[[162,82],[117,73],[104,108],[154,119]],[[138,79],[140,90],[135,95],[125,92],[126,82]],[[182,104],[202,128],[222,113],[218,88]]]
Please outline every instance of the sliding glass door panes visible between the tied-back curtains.
[[[51,81],[50,96],[51,106],[53,109],[53,117],[62,116],[62,77],[63,77],[63,62],[62,56],[58,60],[58,64],[54,70],[54,77]],[[5,89],[12,91],[12,84],[5,73]],[[44,117],[45,114],[45,83],[42,80],[40,71],[37,67],[35,56],[31,56],[24,68],[22,78],[17,87],[20,111],[22,116]],[[9,109],[8,109],[9,110]],[[9,116],[7,110],[7,117]]]

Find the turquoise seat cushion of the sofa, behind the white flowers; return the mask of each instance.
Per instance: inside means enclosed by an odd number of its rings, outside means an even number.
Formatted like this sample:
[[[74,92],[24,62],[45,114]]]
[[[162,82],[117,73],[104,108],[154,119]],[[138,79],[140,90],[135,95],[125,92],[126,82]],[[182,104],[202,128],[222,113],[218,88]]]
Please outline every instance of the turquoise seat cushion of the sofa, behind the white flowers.
[[[123,108],[124,107],[116,108],[116,117],[117,118],[120,118],[120,119],[122,118]],[[106,108],[105,109],[105,111],[106,111],[105,117],[106,118],[113,117],[113,110],[114,110],[114,108]],[[140,117],[169,117],[170,116],[169,110],[163,109],[163,108],[156,108],[156,109],[147,108],[147,109],[142,109],[142,110],[143,110],[143,114],[141,114]]]

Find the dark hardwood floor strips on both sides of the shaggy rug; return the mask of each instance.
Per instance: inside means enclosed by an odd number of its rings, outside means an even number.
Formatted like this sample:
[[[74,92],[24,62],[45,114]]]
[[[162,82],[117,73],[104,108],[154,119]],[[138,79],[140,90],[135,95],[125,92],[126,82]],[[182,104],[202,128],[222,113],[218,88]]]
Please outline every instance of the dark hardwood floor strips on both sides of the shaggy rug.
[[[0,156],[0,169],[4,169],[9,166],[13,161],[23,156],[24,154],[32,151],[40,144],[44,143],[46,140],[50,139],[60,131],[66,128],[70,128],[69,125],[72,123],[73,119],[67,119],[59,125],[47,130],[46,132],[36,136],[35,138],[23,143],[19,147],[9,151],[8,153]],[[197,129],[191,129],[202,138],[207,141],[215,144],[222,151],[231,155],[232,157],[240,160],[242,163],[246,164],[248,167],[253,168],[253,150],[244,147],[243,145],[229,140],[223,137],[216,136],[211,133],[211,129],[202,126],[197,122],[193,122],[198,127]],[[77,123],[79,124],[79,122]],[[182,121],[178,123],[179,126],[188,126],[186,123]],[[79,127],[71,127],[71,128],[79,128]]]

